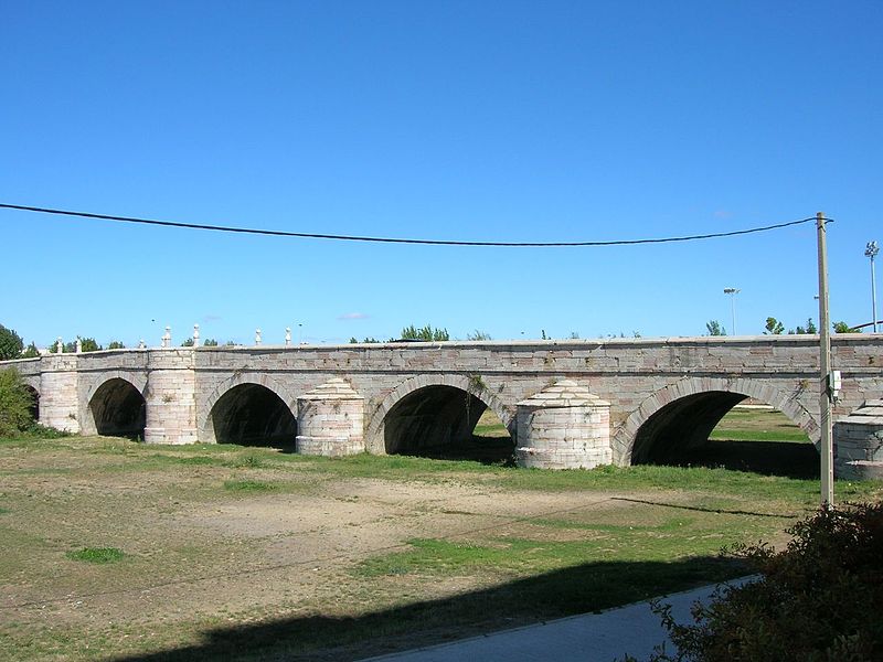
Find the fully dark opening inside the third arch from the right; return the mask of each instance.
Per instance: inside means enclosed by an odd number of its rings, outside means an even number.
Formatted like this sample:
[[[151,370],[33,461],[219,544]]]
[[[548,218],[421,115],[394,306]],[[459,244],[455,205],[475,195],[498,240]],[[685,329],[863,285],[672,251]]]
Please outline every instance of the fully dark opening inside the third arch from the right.
[[[295,449],[297,418],[266,386],[234,386],[215,403],[210,417],[219,444]]]

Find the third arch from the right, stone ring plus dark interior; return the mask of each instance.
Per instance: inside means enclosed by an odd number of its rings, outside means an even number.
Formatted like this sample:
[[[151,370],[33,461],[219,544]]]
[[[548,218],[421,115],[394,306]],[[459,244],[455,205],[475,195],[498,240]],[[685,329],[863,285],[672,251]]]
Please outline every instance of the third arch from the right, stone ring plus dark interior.
[[[252,444],[263,437],[294,445],[297,395],[266,373],[236,373],[209,396],[199,429],[208,444]]]

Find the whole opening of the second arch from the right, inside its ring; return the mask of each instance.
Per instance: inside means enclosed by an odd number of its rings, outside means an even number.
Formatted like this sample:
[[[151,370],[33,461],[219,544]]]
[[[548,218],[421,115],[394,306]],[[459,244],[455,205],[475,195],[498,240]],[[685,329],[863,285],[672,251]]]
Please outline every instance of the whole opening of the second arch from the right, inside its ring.
[[[511,463],[514,442],[477,396],[456,386],[425,386],[403,397],[384,418],[390,455]]]

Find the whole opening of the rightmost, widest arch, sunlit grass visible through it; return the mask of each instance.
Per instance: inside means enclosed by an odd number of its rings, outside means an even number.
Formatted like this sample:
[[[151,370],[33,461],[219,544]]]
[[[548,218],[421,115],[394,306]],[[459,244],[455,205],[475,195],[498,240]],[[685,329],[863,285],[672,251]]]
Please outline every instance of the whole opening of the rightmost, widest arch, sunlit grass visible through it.
[[[799,426],[773,406],[721,391],[682,397],[653,414],[638,430],[631,462],[819,476],[818,451]]]

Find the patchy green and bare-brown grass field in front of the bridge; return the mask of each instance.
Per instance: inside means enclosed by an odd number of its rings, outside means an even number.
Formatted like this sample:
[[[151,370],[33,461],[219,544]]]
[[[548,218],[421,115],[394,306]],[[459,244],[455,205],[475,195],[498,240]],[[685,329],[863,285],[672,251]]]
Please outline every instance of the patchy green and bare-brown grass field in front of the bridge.
[[[788,433],[773,423],[725,429]],[[780,536],[819,499],[818,480],[722,468],[542,471],[98,437],[0,440],[0,585],[21,596],[0,632],[10,660],[381,654],[736,576],[722,547]],[[839,502],[881,493],[836,483]],[[68,555],[84,563],[60,572],[60,549],[83,541],[119,545],[124,562]],[[71,554],[87,549],[100,552]],[[163,586],[158,611],[142,594]],[[45,613],[26,607],[38,601]]]

